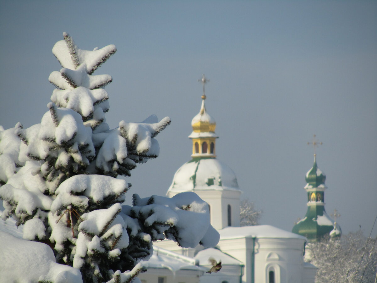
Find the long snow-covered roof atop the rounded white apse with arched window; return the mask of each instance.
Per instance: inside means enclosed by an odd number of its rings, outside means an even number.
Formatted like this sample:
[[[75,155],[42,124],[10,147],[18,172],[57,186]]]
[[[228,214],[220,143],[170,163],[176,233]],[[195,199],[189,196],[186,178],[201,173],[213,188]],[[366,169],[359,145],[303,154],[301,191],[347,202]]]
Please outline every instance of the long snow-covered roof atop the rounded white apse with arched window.
[[[297,235],[271,225],[256,225],[244,227],[227,227],[218,230],[220,240],[236,238],[295,238],[306,240],[305,237]]]

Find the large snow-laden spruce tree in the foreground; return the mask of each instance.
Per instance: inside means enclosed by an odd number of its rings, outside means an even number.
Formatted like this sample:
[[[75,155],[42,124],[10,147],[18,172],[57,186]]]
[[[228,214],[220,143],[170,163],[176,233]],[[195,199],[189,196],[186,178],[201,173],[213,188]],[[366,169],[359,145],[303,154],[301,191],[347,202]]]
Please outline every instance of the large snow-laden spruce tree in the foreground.
[[[115,46],[87,51],[63,36],[52,49],[63,68],[49,77],[56,89],[41,123],[0,129],[2,218],[23,225],[23,238],[48,244],[58,263],[80,269],[84,282],[132,281],[155,240],[216,245],[208,205],[194,193],[134,194],[132,207],[121,206],[130,184],[116,177],[158,156],[155,137],[170,119],[152,115],[110,129],[104,86],[112,78],[93,72]]]

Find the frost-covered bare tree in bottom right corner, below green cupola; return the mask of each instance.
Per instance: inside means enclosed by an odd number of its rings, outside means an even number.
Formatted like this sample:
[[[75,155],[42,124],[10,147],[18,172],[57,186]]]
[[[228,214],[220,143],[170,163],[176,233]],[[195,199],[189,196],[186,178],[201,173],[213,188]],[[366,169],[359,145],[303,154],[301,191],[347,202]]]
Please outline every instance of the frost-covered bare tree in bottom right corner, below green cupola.
[[[305,259],[318,268],[316,283],[370,283],[377,275],[376,245],[358,231],[309,243]]]

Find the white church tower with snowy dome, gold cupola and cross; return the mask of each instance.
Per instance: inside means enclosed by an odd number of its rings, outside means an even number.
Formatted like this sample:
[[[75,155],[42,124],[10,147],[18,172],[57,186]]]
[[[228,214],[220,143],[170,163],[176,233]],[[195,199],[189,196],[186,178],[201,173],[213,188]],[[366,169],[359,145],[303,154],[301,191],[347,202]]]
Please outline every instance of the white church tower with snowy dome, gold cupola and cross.
[[[219,230],[240,223],[240,195],[237,178],[233,170],[216,158],[216,122],[205,109],[204,74],[202,104],[199,113],[192,119],[192,159],[179,168],[167,195],[192,191],[206,201],[210,207],[211,225]]]

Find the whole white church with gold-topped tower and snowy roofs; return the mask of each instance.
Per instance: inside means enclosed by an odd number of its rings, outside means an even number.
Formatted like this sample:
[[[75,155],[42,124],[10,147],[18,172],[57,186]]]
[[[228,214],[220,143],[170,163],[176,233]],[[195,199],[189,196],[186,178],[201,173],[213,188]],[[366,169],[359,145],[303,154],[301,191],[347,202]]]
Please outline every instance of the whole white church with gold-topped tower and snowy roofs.
[[[179,168],[167,196],[192,191],[205,200],[211,225],[218,230],[216,248],[181,248],[171,240],[158,241],[142,283],[314,283],[317,268],[304,262],[307,238],[270,226],[240,227],[240,195],[236,175],[216,159],[216,122],[204,105],[192,122],[192,159]],[[221,261],[218,272],[209,258]]]

